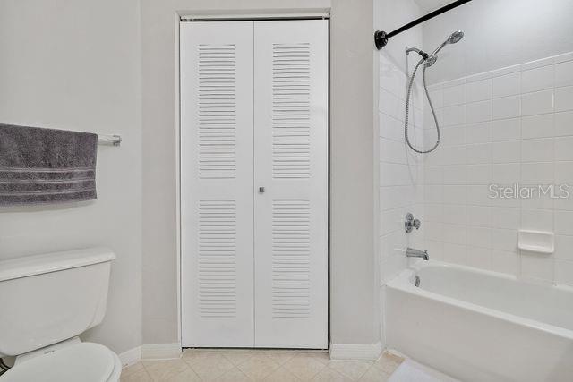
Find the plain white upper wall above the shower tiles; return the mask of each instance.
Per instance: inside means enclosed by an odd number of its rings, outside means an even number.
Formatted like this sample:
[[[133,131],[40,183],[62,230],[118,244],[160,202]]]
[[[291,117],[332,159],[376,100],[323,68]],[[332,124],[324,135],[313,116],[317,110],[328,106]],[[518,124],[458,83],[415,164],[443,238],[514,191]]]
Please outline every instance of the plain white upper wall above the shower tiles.
[[[479,0],[423,23],[432,51],[454,30],[466,36],[445,47],[428,71],[430,82],[453,80],[573,50],[570,0]]]

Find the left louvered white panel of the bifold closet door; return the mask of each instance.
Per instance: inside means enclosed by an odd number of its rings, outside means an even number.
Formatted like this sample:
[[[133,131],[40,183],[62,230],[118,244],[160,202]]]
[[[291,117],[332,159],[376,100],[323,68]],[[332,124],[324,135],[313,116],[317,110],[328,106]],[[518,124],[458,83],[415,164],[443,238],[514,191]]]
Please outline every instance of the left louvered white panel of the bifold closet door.
[[[181,23],[184,346],[253,346],[252,28]]]

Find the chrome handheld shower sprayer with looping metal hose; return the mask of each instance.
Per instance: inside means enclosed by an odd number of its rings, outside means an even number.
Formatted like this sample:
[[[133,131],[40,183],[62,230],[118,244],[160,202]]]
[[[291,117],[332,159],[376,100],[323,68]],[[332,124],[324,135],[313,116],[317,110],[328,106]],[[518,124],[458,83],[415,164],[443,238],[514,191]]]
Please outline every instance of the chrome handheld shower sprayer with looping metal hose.
[[[449,35],[449,38],[447,38],[444,42],[442,42],[439,47],[435,48],[434,51],[432,52],[432,54],[430,54],[430,55],[428,55],[427,53],[423,52],[423,50],[420,50],[416,47],[406,48],[406,55],[409,55],[410,52],[415,52],[422,57],[420,59],[420,61],[418,62],[418,64],[415,65],[414,72],[412,72],[412,76],[410,77],[410,81],[408,82],[408,92],[407,92],[407,96],[406,96],[406,119],[405,119],[405,124],[404,124],[404,137],[406,139],[406,143],[410,147],[410,149],[413,149],[415,152],[417,152],[419,154],[430,153],[433,150],[437,149],[438,146],[440,145],[440,123],[438,123],[438,118],[436,117],[436,111],[434,110],[433,104],[432,104],[432,98],[430,98],[428,86],[426,85],[426,69],[428,69],[433,64],[436,64],[436,61],[438,61],[438,53],[440,53],[441,49],[443,49],[444,47],[446,47],[449,44],[456,44],[463,37],[464,37],[463,31],[461,31],[461,30],[455,31],[454,33]],[[433,121],[434,121],[434,123],[436,123],[436,143],[433,145],[432,149],[427,149],[427,150],[416,149],[414,147],[414,145],[410,142],[410,137],[408,135],[408,118],[410,115],[410,113],[409,113],[410,112],[410,110],[409,110],[410,109],[410,97],[412,95],[412,88],[414,87],[415,73],[418,71],[418,68],[422,64],[423,64],[423,71],[422,71],[423,89],[424,89],[424,92],[426,94],[426,98],[428,98],[428,105],[430,106],[430,110],[432,111]]]

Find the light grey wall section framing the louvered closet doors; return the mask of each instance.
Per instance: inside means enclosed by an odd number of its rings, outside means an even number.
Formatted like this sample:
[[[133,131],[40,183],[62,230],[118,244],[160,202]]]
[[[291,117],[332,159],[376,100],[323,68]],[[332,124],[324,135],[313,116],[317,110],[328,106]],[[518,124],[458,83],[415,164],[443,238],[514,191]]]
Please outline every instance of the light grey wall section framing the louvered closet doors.
[[[372,230],[372,2],[141,1],[143,343],[179,341],[176,248],[176,14],[330,8],[330,335],[380,340]],[[349,202],[352,200],[352,202]]]

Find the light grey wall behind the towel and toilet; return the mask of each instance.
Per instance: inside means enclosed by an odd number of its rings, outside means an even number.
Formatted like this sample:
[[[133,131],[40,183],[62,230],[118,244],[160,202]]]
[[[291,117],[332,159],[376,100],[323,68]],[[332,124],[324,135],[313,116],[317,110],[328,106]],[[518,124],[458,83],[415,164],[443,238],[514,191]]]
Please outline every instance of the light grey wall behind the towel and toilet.
[[[87,340],[141,344],[139,3],[0,2],[0,122],[118,133],[98,149],[98,199],[0,208],[0,259],[104,245],[115,251],[107,316]]]

